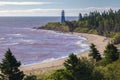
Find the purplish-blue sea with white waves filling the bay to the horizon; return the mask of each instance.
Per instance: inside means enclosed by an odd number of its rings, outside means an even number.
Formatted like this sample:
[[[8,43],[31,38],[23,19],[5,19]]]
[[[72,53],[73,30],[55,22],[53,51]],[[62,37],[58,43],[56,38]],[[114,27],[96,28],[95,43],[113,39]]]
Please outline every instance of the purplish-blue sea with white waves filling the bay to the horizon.
[[[0,17],[0,61],[8,48],[22,65],[52,61],[89,49],[84,37],[32,29],[48,22],[60,22],[60,17]]]

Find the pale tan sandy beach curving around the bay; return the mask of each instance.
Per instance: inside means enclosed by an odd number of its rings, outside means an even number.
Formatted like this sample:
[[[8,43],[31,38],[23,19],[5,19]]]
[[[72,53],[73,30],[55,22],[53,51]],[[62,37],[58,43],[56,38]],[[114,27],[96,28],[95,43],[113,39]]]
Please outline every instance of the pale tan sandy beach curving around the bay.
[[[87,38],[86,43],[91,44],[94,43],[96,45],[96,48],[100,51],[101,54],[103,54],[103,51],[105,49],[105,46],[108,44],[109,39],[103,36],[94,35],[94,34],[86,34],[86,33],[73,33],[75,35],[83,36]],[[78,54],[78,57],[88,57],[88,51],[82,52]],[[62,58],[50,62],[44,62],[44,63],[38,63],[38,64],[32,64],[27,66],[21,66],[20,69],[23,70],[25,73],[44,73],[51,70],[56,70],[61,67],[63,67],[63,63],[67,58]]]

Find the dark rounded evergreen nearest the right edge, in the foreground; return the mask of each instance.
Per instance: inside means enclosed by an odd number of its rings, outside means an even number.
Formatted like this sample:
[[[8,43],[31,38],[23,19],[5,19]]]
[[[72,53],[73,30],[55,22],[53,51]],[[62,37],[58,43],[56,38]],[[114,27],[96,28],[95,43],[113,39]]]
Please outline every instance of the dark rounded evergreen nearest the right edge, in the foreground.
[[[116,61],[119,58],[118,49],[113,44],[108,44],[104,51],[105,59],[108,63]]]

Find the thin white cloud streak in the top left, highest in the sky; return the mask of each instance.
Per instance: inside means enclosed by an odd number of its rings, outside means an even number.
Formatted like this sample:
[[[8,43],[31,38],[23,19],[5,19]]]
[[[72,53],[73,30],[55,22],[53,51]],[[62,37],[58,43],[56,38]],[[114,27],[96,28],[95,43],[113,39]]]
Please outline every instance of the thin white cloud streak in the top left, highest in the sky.
[[[44,5],[44,4],[53,4],[53,2],[6,2],[6,1],[0,1],[0,6],[6,6],[6,5]]]

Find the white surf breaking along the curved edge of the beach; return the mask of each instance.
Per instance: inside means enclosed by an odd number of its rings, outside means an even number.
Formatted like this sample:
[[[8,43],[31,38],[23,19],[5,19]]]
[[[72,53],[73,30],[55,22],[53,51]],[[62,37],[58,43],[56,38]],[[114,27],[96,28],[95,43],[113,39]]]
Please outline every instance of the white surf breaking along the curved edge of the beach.
[[[49,31],[49,30],[47,30],[47,31]],[[50,31],[52,31],[52,30],[50,30]],[[76,35],[76,34],[72,34],[72,33],[63,33],[63,32],[59,32],[59,31],[53,31],[53,32],[55,32],[55,33],[61,33],[61,34],[64,34],[64,35]],[[81,54],[81,53],[83,53],[83,52],[85,52],[85,51],[88,51],[89,50],[89,45],[86,43],[86,41],[88,40],[86,37],[84,37],[84,36],[80,36],[80,35],[77,35],[78,37],[81,37],[81,38],[85,38],[83,41],[78,41],[78,42],[82,42],[82,44],[81,43],[77,43],[76,42],[76,44],[77,45],[83,45],[85,48],[84,49],[82,49],[82,50],[80,50],[79,52],[72,52],[72,53],[74,53],[74,54],[76,54],[76,55],[78,55],[78,54]],[[87,46],[86,46],[87,45]],[[80,46],[80,48],[81,48],[81,46]],[[37,65],[37,64],[42,64],[42,63],[46,63],[46,62],[53,62],[53,61],[55,61],[55,60],[60,60],[60,59],[64,59],[64,58],[67,58],[68,57],[68,55],[67,56],[61,56],[61,57],[58,57],[58,58],[48,58],[48,59],[45,59],[45,60],[43,60],[43,61],[38,61],[38,62],[34,62],[34,63],[30,63],[30,64],[23,64],[23,65],[21,65],[22,67],[25,67],[25,66],[31,66],[31,65]]]

